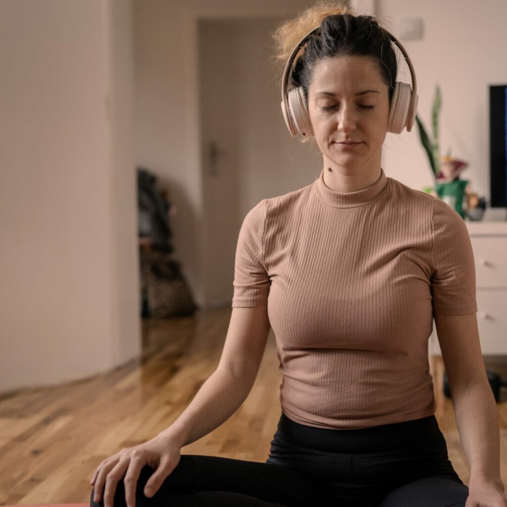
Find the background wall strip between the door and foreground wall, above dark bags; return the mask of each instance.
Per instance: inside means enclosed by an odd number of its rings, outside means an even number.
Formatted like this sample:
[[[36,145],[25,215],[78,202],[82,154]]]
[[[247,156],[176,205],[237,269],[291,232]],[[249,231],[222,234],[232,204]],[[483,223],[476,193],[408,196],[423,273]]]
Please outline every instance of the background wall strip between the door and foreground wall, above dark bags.
[[[134,0],[135,160],[168,187],[174,258],[203,299],[197,21],[183,2]]]

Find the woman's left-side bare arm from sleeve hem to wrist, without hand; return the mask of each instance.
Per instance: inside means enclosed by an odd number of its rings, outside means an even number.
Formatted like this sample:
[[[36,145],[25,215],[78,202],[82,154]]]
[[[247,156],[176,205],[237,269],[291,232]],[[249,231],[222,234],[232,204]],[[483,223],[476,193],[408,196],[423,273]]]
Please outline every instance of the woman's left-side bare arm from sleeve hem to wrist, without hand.
[[[182,414],[160,436],[184,447],[218,428],[248,396],[269,336],[267,306],[234,307],[216,370]]]

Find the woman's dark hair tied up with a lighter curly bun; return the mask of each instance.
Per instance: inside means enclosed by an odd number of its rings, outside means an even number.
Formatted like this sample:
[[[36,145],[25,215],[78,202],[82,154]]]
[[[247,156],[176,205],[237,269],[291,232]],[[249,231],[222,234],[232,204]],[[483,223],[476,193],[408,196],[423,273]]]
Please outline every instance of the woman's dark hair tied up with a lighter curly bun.
[[[319,27],[298,51],[289,83],[302,86],[308,100],[308,88],[319,60],[338,56],[368,56],[378,63],[382,81],[388,87],[390,105],[397,75],[391,37],[373,16],[356,16],[351,11],[354,12],[345,0],[321,0],[297,18],[282,22],[272,34],[277,46],[275,59],[285,66],[288,55],[305,33]]]

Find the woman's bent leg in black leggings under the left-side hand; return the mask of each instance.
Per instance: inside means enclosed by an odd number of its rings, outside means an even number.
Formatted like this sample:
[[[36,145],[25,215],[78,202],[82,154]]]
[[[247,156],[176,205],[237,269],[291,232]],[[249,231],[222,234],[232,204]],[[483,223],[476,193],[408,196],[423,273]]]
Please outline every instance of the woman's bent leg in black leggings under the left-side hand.
[[[144,466],[136,485],[136,507],[306,507],[331,505],[333,499],[287,466],[219,456],[184,454],[151,498],[143,488],[155,470]],[[113,507],[126,507],[123,480]],[[90,507],[103,507],[103,495]]]

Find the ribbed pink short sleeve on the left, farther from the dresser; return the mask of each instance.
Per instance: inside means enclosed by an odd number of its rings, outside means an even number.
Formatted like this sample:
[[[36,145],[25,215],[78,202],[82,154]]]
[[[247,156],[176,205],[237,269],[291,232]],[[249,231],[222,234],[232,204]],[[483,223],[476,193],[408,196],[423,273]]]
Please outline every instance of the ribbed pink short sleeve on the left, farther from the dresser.
[[[232,306],[260,306],[267,303],[271,280],[264,263],[266,199],[246,214],[239,231],[234,264]]]

